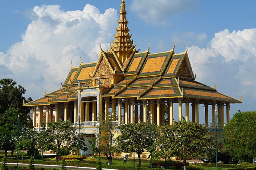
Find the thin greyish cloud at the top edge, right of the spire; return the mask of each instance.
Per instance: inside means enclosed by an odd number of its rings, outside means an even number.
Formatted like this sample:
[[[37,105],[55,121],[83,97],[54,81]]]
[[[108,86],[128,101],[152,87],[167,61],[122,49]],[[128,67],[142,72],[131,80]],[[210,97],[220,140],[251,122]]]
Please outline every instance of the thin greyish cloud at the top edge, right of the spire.
[[[197,0],[132,0],[130,10],[151,24],[167,24],[169,18],[196,11]]]

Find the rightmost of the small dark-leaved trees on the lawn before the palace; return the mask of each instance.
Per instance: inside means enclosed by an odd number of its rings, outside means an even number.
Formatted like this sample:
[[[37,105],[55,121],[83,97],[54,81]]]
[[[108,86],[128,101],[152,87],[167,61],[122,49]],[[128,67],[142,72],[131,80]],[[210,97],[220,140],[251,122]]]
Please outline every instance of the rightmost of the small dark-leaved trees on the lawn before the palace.
[[[188,157],[199,158],[206,152],[212,152],[215,146],[207,127],[196,122],[179,120],[170,126],[171,131],[166,135],[170,144],[166,143],[166,151],[180,156],[186,170],[186,159]]]

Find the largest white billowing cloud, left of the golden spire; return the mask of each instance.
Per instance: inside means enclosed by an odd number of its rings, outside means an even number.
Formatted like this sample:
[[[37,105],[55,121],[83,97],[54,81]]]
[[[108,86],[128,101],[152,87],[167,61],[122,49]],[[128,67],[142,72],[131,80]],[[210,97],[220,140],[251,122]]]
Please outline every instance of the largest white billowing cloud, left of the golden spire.
[[[71,68],[97,61],[100,43],[108,47],[114,37],[118,15],[87,4],[84,9],[64,12],[58,5],[35,6],[31,23],[18,42],[0,53],[0,77],[10,77],[30,89],[26,95],[42,97],[44,89],[60,88]],[[36,93],[36,94],[35,94]]]

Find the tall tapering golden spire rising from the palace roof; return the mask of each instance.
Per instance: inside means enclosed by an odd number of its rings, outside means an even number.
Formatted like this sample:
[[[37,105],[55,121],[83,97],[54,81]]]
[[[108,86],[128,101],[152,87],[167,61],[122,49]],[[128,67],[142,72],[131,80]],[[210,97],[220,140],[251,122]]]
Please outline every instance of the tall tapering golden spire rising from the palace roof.
[[[130,57],[135,46],[132,45],[133,41],[131,40],[132,35],[129,34],[130,29],[127,27],[128,21],[126,20],[126,10],[125,3],[122,0],[121,10],[119,12],[120,18],[118,21],[118,28],[116,29],[117,34],[115,35],[115,41],[110,48],[109,53],[112,51],[115,52],[116,56],[124,63],[124,61]],[[138,52],[138,51],[136,51]]]

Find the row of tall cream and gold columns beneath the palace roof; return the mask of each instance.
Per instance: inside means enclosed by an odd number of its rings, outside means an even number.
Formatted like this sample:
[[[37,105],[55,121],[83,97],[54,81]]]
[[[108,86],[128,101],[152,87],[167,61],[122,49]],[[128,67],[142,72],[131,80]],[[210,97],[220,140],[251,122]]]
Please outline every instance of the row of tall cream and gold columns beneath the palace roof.
[[[205,124],[206,127],[209,126],[209,109],[208,107],[212,107],[212,117],[215,117],[215,109],[217,109],[218,113],[218,124],[224,126],[224,107],[226,107],[226,123],[228,123],[230,119],[230,104],[223,102],[208,102],[203,103],[199,100],[186,100],[179,98],[178,100],[174,99],[151,99],[151,100],[136,100],[136,98],[103,98],[102,100],[102,110],[100,111],[100,116],[102,117],[103,113],[106,116],[109,116],[109,110],[112,113],[113,121],[117,121],[119,124],[127,124],[127,123],[138,123],[138,121],[144,122],[152,122],[157,125],[161,125],[165,122],[165,106],[167,106],[167,121],[168,124],[174,123],[174,103],[178,103],[178,119],[184,117],[186,121],[190,119],[190,110],[191,110],[191,120],[199,123],[199,107],[204,107],[205,113]],[[200,106],[199,106],[200,104]],[[204,106],[201,106],[204,105]],[[34,106],[34,119],[33,125],[34,127],[42,127],[43,126],[43,110],[46,109],[46,122],[45,127],[48,127],[47,123],[53,121],[53,109],[55,109],[55,120],[58,121],[60,119],[60,108],[64,110],[64,121],[68,119],[68,110],[69,105],[68,102],[64,102],[64,104],[55,104],[54,106],[38,106],[38,123],[36,123],[36,108]],[[185,106],[185,108],[183,108]],[[190,109],[191,106],[191,109]],[[217,106],[217,108],[216,108]],[[74,101],[74,123],[78,120],[78,104]],[[81,121],[89,122],[89,121],[97,121],[97,101],[83,101],[80,104],[80,112],[81,112]],[[183,109],[185,111],[183,111]],[[49,113],[50,112],[50,113]],[[183,113],[185,113],[183,115]],[[63,118],[63,117],[62,117]]]

